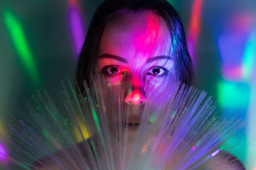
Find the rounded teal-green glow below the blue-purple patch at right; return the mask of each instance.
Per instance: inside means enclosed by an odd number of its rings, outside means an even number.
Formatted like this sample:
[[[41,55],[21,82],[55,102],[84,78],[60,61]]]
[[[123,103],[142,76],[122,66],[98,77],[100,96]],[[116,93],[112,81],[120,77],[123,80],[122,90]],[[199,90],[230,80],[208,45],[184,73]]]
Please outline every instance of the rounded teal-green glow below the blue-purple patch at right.
[[[247,83],[221,81],[218,83],[218,102],[223,108],[246,108],[250,101],[250,86]]]

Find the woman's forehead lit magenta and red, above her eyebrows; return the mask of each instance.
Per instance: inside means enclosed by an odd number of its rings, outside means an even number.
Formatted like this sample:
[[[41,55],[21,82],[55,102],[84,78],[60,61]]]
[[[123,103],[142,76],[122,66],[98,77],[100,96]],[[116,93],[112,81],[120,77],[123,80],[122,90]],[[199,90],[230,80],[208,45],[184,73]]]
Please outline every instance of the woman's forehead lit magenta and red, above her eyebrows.
[[[170,56],[171,44],[170,31],[163,18],[153,11],[145,11],[111,18],[102,34],[99,55],[108,53],[127,60],[147,60]]]

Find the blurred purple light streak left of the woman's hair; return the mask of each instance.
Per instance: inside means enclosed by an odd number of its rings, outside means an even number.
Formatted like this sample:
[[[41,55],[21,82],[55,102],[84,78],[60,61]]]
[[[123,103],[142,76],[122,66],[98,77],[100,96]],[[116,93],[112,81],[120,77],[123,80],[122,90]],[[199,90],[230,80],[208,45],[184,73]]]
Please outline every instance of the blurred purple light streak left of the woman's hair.
[[[81,15],[79,14],[79,10],[74,6],[70,6],[69,23],[76,50],[76,56],[78,59],[78,55],[81,52],[81,48],[84,43],[84,29]]]

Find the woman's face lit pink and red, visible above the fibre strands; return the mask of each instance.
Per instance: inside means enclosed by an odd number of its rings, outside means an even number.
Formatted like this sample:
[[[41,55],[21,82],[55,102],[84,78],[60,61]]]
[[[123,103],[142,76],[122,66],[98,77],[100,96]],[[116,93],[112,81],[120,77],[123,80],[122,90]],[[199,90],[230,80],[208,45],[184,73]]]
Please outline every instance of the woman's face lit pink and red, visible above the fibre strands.
[[[125,92],[124,104],[131,113],[125,122],[140,123],[141,107],[154,100],[149,99],[149,92],[170,89],[170,78],[175,74],[171,51],[170,31],[156,13],[144,11],[109,19],[96,71],[114,86],[128,81],[131,89]]]

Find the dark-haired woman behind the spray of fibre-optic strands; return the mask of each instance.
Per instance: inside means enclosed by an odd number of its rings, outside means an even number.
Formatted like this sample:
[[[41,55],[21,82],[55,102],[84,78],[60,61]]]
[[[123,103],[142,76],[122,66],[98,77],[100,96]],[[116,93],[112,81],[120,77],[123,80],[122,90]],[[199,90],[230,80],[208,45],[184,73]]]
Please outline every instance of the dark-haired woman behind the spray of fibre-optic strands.
[[[172,82],[191,85],[191,59],[177,11],[164,0],[104,1],[93,16],[79,57],[79,88],[83,90],[83,81],[90,84],[97,74],[108,85],[129,83],[131,89],[124,92],[129,114],[122,120],[127,126],[140,124],[143,106],[154,103],[148,97],[153,90],[164,92]],[[220,162],[223,155],[212,161]],[[217,169],[244,169],[235,157],[228,161]],[[239,166],[234,167],[234,162]]]

